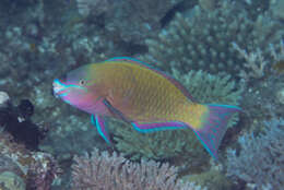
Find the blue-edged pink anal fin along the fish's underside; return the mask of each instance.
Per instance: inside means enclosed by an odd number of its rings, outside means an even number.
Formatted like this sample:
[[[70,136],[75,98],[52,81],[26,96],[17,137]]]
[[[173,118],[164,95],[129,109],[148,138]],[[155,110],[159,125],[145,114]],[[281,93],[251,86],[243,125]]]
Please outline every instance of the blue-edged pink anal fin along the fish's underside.
[[[179,121],[153,122],[153,123],[131,122],[131,124],[137,131],[143,132],[143,133],[188,128],[188,126],[186,123],[179,122]]]

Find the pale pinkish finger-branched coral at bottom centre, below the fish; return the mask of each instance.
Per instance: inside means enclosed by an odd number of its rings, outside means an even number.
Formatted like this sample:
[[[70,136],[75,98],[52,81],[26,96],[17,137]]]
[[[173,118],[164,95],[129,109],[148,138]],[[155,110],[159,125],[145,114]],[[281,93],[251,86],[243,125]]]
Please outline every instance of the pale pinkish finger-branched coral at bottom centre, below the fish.
[[[153,161],[131,163],[125,157],[94,150],[91,156],[74,157],[74,190],[201,190],[177,181],[177,168]]]

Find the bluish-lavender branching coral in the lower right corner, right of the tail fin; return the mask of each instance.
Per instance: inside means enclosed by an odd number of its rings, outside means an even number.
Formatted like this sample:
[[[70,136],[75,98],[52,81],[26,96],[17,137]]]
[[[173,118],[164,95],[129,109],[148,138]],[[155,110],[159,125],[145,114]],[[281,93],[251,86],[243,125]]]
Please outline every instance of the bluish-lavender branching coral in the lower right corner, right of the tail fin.
[[[274,118],[263,124],[263,133],[246,133],[238,139],[238,154],[236,150],[227,151],[227,174],[255,185],[258,190],[282,189],[284,120]]]

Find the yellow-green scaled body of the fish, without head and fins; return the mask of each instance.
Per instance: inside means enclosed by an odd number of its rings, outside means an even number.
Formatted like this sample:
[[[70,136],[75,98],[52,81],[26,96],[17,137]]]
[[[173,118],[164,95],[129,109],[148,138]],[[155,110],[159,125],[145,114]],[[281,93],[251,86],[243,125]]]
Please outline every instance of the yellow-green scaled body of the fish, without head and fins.
[[[206,109],[191,102],[171,81],[140,64],[110,61],[92,67],[105,73],[102,76],[105,97],[130,120],[176,120],[198,128],[201,109]]]

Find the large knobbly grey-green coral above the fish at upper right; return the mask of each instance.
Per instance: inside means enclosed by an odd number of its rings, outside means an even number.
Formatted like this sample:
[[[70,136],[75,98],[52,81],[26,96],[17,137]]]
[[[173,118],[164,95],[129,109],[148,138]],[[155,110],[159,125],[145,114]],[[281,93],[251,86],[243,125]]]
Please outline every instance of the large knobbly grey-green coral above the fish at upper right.
[[[214,11],[196,7],[188,14],[177,13],[157,38],[146,39],[149,54],[142,59],[168,71],[202,69],[238,76],[246,69],[246,61],[232,46],[233,41],[249,52],[259,48],[264,58],[270,58],[269,44],[279,41],[283,34],[283,25],[268,13],[253,20],[238,2],[223,0]]]

